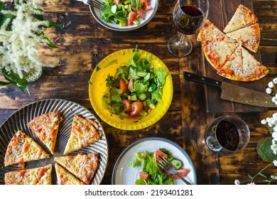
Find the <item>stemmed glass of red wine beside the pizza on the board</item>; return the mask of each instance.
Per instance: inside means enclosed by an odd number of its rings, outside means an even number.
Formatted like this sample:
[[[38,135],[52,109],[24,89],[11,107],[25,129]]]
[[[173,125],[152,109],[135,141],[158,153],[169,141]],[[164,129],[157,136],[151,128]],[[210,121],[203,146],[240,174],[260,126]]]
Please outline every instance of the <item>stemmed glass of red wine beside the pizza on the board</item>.
[[[208,0],[178,0],[173,11],[173,23],[181,33],[168,41],[168,50],[177,57],[184,57],[192,51],[192,41],[185,35],[195,34],[207,20]]]

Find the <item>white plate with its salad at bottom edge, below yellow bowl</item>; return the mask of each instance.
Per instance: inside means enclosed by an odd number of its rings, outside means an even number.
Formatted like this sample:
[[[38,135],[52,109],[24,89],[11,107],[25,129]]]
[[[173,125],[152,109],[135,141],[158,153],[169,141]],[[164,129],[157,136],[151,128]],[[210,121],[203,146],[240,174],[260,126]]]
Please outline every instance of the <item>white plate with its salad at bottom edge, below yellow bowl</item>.
[[[192,160],[175,142],[159,137],[140,139],[128,146],[117,159],[112,173],[113,185],[185,185],[177,176],[158,166],[159,156],[173,163],[176,171],[196,185]]]

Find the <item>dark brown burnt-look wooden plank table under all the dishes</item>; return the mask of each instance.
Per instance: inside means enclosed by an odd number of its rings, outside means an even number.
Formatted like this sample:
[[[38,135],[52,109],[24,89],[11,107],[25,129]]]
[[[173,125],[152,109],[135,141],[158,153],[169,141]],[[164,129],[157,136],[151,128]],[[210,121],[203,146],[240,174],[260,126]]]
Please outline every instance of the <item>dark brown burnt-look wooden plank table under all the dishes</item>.
[[[239,154],[219,157],[203,156],[193,146],[195,134],[202,133],[207,124],[214,118],[228,113],[209,114],[205,111],[205,87],[193,82],[185,82],[183,70],[202,72],[204,58],[200,43],[196,36],[190,36],[194,50],[185,58],[175,58],[167,48],[168,39],[175,35],[172,23],[173,0],[160,0],[156,16],[142,28],[129,32],[112,31],[97,23],[89,11],[89,7],[80,1],[50,1],[45,2],[45,18],[63,23],[64,28],[49,28],[46,33],[51,41],[60,48],[42,48],[40,53],[47,63],[53,63],[55,68],[44,68],[43,75],[31,83],[31,95],[23,95],[12,85],[0,87],[0,125],[17,109],[40,99],[67,99],[77,102],[89,109],[96,117],[89,102],[88,80],[95,65],[105,56],[116,50],[139,48],[147,50],[161,58],[173,77],[174,95],[170,109],[165,116],[151,127],[138,131],[123,131],[110,127],[102,122],[109,144],[109,163],[102,184],[111,184],[112,170],[119,154],[134,141],[145,137],[158,136],[183,146],[188,152],[197,171],[198,184],[233,184],[235,179],[244,181],[247,173],[254,175],[267,165],[256,154],[256,144],[268,131],[261,124],[261,119],[271,117],[274,109],[268,112],[229,113],[237,115],[249,124],[251,139],[248,146]],[[229,7],[229,1],[210,0],[209,17],[217,12],[227,16],[234,7]],[[234,0],[234,4],[249,4],[248,0]],[[254,13],[259,18],[261,26],[261,61],[270,70],[264,78],[265,85],[277,75],[277,1],[254,0]],[[223,6],[220,13],[214,5]],[[227,18],[223,18],[225,21]],[[223,21],[224,21],[223,20]],[[0,77],[3,80],[3,77]],[[271,169],[264,174],[276,173]],[[259,178],[256,183],[263,183]]]

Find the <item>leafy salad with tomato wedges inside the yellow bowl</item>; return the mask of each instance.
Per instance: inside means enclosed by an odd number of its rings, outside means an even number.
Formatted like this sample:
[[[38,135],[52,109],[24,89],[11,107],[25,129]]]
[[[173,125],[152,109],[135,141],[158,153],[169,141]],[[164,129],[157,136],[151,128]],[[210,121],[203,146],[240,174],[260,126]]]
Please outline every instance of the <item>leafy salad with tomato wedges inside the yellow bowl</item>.
[[[121,119],[144,117],[162,100],[167,75],[163,68],[154,68],[150,56],[141,58],[135,50],[129,63],[121,63],[114,76],[107,76],[102,105]]]

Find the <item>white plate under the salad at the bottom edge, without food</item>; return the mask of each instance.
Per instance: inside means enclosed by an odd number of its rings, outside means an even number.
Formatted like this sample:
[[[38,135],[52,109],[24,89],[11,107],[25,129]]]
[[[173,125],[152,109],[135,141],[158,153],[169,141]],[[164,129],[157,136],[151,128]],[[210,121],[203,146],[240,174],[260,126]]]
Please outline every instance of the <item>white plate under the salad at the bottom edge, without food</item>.
[[[134,161],[134,154],[136,152],[155,152],[157,149],[168,149],[172,152],[175,158],[180,159],[184,166],[183,168],[190,169],[190,173],[185,177],[188,181],[193,184],[197,184],[195,167],[188,156],[188,154],[184,151],[182,147],[178,144],[175,144],[173,141],[163,138],[146,138],[141,139],[139,141],[134,142],[130,146],[128,146],[119,158],[116,161],[114,166],[114,171],[112,173],[112,184],[113,185],[134,185],[136,180],[139,178],[139,172],[142,170],[142,166],[131,168],[129,166],[129,161]],[[182,180],[174,180],[175,185],[183,185],[185,184]]]

